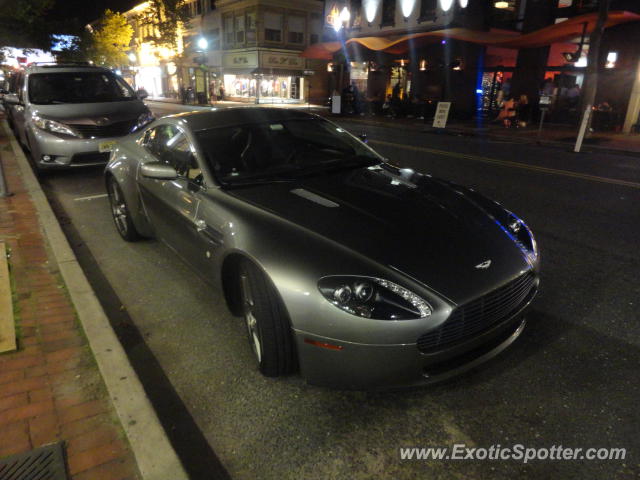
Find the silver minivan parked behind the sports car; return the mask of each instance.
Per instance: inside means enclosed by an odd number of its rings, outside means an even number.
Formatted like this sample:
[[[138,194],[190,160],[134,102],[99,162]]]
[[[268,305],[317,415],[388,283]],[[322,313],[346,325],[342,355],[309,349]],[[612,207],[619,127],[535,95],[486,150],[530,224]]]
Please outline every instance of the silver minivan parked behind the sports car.
[[[144,95],[106,68],[33,65],[12,84],[9,123],[38,170],[105,164],[116,138],[153,119]]]

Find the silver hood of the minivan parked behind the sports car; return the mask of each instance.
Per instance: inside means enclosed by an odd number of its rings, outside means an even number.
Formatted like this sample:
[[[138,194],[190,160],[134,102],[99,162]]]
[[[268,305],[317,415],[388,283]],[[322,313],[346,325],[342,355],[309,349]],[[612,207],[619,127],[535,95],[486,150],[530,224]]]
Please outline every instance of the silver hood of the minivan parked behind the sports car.
[[[137,119],[148,112],[139,100],[125,102],[68,103],[56,105],[33,105],[33,112],[51,120],[71,124],[100,125]]]

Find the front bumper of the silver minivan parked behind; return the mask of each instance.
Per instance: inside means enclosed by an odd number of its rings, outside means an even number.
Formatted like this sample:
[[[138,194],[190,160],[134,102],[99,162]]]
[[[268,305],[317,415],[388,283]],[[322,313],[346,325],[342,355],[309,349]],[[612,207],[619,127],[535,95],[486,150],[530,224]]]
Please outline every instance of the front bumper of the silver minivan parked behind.
[[[101,152],[100,145],[119,138],[63,138],[33,126],[29,127],[27,135],[31,156],[38,169],[105,165],[110,152]],[[50,159],[45,161],[45,156]]]

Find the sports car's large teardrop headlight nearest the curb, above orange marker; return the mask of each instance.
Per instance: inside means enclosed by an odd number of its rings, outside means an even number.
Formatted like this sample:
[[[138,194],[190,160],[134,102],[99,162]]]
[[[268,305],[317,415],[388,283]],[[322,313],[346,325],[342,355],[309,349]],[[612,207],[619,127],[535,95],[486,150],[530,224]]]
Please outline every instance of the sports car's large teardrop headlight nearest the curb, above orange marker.
[[[330,276],[318,282],[320,293],[336,307],[376,320],[412,320],[432,313],[426,300],[406,288],[375,277]]]

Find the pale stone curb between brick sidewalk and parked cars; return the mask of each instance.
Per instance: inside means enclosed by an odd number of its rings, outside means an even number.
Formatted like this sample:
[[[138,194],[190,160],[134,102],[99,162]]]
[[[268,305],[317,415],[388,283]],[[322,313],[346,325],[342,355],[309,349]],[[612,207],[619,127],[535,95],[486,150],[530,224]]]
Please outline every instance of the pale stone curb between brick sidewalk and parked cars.
[[[113,406],[144,480],[189,480],[138,376],[60,228],[29,161],[2,121],[39,223],[58,264]]]

